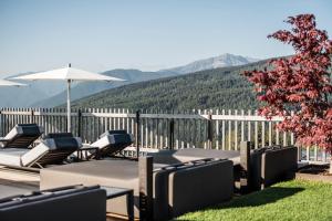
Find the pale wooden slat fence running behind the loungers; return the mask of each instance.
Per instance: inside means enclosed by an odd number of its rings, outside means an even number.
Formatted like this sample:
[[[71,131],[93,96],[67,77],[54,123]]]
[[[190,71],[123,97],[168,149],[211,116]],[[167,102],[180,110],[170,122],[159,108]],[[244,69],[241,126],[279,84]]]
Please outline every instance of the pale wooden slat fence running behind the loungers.
[[[2,108],[0,135],[20,123],[37,123],[48,133],[66,130],[63,108]],[[294,136],[276,129],[281,118],[271,120],[253,110],[191,109],[187,112],[133,110],[123,108],[72,109],[72,133],[84,143],[93,143],[108,129],[126,129],[143,148],[212,148],[238,150],[242,140],[255,148],[271,145],[294,145]],[[318,147],[299,148],[308,161],[329,161],[330,156]]]

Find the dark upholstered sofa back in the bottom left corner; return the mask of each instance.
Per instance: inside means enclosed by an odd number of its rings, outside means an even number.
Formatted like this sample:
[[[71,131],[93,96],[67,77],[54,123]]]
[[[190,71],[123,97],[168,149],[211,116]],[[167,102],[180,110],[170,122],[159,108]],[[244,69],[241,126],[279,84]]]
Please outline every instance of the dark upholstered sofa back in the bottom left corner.
[[[0,220],[105,221],[106,192],[76,186],[0,199]]]

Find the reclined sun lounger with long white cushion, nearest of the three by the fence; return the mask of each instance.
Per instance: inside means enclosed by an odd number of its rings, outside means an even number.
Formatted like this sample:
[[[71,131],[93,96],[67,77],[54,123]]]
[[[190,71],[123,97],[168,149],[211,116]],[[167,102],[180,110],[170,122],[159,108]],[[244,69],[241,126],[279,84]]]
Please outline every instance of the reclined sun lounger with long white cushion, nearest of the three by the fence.
[[[45,167],[62,164],[71,154],[82,146],[79,137],[56,137],[48,135],[31,149],[0,149],[0,165],[11,167]]]

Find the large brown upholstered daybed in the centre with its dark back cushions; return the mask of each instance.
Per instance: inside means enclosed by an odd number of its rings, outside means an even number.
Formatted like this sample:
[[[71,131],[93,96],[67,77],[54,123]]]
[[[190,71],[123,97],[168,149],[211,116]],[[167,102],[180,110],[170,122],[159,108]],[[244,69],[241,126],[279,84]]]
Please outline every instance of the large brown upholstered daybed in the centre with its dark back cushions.
[[[230,160],[208,159],[177,165],[154,164],[152,166],[154,170],[145,175],[141,172],[142,169],[138,169],[141,164],[142,158],[138,161],[107,159],[45,168],[41,170],[40,188],[75,183],[129,188],[134,190],[135,196],[135,217],[139,218],[138,209],[142,201],[149,202],[154,199],[153,207],[152,203],[144,206],[144,208],[148,206],[153,208],[154,220],[167,220],[187,211],[219,203],[230,199],[234,193]],[[146,198],[142,198],[144,191],[142,183],[148,189],[145,189]],[[126,215],[125,200],[118,198],[107,201],[107,212]]]

